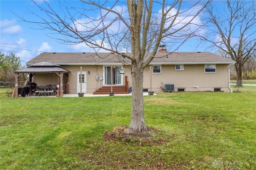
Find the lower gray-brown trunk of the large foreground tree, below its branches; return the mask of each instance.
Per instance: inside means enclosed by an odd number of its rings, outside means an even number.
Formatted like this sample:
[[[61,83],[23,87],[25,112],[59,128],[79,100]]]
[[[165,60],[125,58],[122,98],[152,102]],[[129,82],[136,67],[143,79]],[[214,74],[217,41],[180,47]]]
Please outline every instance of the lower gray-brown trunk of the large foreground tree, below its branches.
[[[143,107],[143,68],[132,62],[132,113],[131,123],[126,129],[126,133],[148,132],[144,120]]]

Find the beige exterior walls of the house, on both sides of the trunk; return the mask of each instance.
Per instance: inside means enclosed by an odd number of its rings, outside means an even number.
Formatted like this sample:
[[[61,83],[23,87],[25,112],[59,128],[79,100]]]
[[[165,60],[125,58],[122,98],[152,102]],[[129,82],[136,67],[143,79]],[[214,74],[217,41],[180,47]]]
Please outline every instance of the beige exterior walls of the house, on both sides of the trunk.
[[[204,64],[184,65],[184,70],[175,70],[175,65],[161,65],[160,74],[151,74],[152,91],[164,91],[164,84],[173,83],[175,91],[177,88],[186,88],[186,91],[213,91],[214,87],[221,87],[222,91],[229,92],[228,88],[228,64],[217,64],[216,73],[205,73]],[[77,72],[80,72],[80,65],[62,65],[69,73],[70,93],[77,93]],[[123,75],[123,84],[125,76],[128,76],[129,88],[132,83],[130,66],[123,66],[125,74]],[[102,87],[100,77],[103,76],[102,65],[83,65],[82,71],[86,71],[86,93],[93,93],[99,87]],[[90,73],[89,73],[90,72]],[[99,80],[96,80],[96,75]],[[39,85],[57,84],[56,74],[36,74],[32,81]],[[63,83],[65,76],[63,77]],[[196,88],[197,86],[198,88]],[[144,69],[143,87],[150,90],[150,66]]]

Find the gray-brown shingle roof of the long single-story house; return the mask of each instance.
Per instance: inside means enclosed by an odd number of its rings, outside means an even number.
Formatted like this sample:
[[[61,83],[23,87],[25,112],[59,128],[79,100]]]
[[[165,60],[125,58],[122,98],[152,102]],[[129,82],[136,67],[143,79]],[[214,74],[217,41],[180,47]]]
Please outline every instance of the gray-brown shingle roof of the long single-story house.
[[[131,55],[131,53],[125,53]],[[149,56],[148,53],[147,56]],[[146,59],[147,57],[145,57]],[[104,65],[121,64],[120,59],[130,63],[130,59],[115,53],[41,53],[27,64],[50,61],[58,65]],[[158,52],[150,64],[196,64],[196,63],[234,63],[234,61],[210,52]]]

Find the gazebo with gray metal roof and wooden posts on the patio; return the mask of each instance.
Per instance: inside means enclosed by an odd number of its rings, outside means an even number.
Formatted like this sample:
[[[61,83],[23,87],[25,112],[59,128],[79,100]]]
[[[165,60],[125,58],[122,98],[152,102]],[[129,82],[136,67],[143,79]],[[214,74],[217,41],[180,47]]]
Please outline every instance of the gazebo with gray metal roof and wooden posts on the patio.
[[[40,61],[38,63],[33,63],[28,65],[28,67],[24,69],[19,69],[14,71],[15,72],[15,87],[14,87],[14,92],[12,93],[12,97],[18,97],[18,82],[19,82],[19,75],[20,73],[27,73],[29,74],[29,79],[28,82],[32,82],[32,77],[35,74],[40,74],[40,73],[56,73],[58,75],[58,85],[59,89],[63,89],[63,74],[66,74],[66,79],[65,79],[65,92],[69,93],[69,75],[70,71],[66,69],[60,68],[60,65],[51,63],[49,61]],[[58,90],[57,96],[62,97],[63,91]]]

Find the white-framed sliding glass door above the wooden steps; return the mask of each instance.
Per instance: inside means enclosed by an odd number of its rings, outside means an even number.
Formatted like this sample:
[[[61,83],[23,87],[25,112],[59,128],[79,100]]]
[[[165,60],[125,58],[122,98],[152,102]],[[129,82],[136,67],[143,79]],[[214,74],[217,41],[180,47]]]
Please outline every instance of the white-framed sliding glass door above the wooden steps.
[[[121,68],[120,66],[104,67],[104,85],[111,85],[111,72],[112,72],[113,85],[122,85],[122,75],[119,74],[120,68]]]

